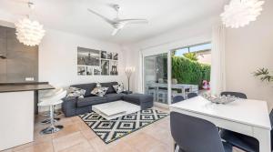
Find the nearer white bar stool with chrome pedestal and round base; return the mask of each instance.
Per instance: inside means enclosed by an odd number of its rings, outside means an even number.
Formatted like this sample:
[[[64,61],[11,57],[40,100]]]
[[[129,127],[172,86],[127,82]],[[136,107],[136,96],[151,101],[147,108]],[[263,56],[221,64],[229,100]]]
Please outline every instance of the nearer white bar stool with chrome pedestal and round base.
[[[66,97],[66,90],[59,92],[53,96],[47,96],[41,99],[41,102],[38,103],[38,106],[49,106],[50,107],[50,126],[43,129],[40,134],[52,134],[60,131],[63,126],[55,126],[54,119],[54,106],[63,103],[62,98]]]

